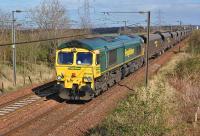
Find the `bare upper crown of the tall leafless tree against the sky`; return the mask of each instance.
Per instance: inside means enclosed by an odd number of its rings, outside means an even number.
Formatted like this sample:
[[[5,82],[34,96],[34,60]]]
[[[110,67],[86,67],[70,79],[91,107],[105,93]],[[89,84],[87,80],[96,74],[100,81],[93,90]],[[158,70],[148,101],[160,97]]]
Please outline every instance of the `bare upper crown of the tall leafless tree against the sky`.
[[[41,29],[61,29],[68,27],[66,8],[60,0],[43,0],[32,9],[32,19]]]

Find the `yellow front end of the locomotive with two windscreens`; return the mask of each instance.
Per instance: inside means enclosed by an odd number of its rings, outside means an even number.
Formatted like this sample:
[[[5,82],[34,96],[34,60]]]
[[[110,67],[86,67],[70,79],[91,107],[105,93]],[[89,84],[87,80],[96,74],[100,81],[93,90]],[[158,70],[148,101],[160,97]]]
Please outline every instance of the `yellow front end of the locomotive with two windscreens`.
[[[57,82],[64,91],[83,91],[85,86],[95,90],[95,78],[101,75],[97,64],[98,51],[81,48],[65,48],[56,52]],[[70,92],[70,93],[71,93]]]

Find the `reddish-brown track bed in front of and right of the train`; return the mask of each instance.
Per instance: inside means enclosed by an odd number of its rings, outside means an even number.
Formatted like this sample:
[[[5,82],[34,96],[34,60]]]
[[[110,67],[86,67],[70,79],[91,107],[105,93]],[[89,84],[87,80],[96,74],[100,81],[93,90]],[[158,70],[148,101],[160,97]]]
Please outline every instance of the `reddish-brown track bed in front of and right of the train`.
[[[164,63],[168,62],[170,56],[174,54],[173,50],[177,49],[177,47],[150,61],[150,73],[155,73]],[[112,109],[111,107],[114,107],[113,105],[119,99],[130,92],[133,84],[135,85],[137,81],[141,81],[143,72],[144,68],[139,69],[133,75],[122,80],[119,85],[113,86],[109,91],[86,104],[66,104],[65,102],[52,104],[54,103],[52,101],[49,101],[49,103],[48,101],[43,102],[41,109],[34,107],[38,112],[41,110],[39,114],[32,113],[33,116],[24,121],[18,120],[19,123],[14,124],[12,127],[9,124],[5,125],[4,128],[7,128],[2,133],[0,131],[0,135],[81,135],[104,119],[106,113]],[[136,79],[138,80],[136,81]],[[46,110],[42,112],[44,108]]]

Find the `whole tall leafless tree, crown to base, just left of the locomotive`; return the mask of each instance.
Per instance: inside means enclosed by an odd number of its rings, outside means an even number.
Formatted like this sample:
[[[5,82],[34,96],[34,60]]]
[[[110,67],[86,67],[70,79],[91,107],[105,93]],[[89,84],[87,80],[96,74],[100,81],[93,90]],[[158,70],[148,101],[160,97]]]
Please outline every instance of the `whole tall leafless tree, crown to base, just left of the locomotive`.
[[[59,37],[69,28],[67,10],[60,0],[43,0],[39,6],[31,11],[31,18],[39,27],[41,39]],[[45,44],[45,46],[43,46],[43,48],[45,48],[44,50],[48,49],[48,51],[46,51],[48,52],[47,59],[50,62],[54,62],[55,50],[58,44],[57,41],[40,43],[40,45],[41,44]]]

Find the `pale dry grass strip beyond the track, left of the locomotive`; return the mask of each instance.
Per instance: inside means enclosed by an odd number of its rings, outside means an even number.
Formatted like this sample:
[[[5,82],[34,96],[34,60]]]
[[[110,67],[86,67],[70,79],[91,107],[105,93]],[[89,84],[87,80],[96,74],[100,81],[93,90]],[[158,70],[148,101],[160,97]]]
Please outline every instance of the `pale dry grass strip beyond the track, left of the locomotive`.
[[[17,85],[13,86],[13,68],[9,64],[0,64],[0,91],[16,91],[19,88],[51,80],[55,71],[45,64],[27,64],[17,66]],[[2,90],[3,84],[3,90]]]

